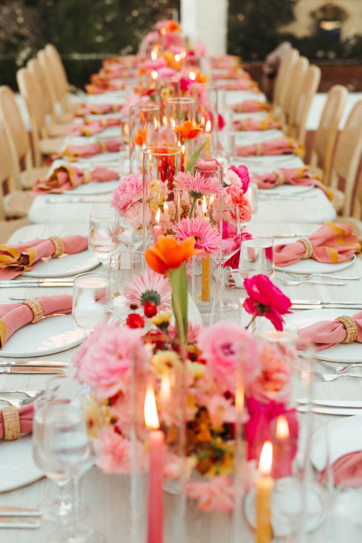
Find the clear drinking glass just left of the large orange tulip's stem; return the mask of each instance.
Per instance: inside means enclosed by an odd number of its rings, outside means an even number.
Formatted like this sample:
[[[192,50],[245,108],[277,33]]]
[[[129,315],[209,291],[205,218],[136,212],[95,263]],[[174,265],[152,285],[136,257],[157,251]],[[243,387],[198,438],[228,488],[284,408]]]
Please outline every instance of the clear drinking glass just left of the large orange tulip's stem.
[[[139,275],[145,268],[143,252],[123,251],[111,257],[106,293],[107,308],[122,321],[126,320],[130,312],[142,310],[142,306],[130,308],[126,304],[124,290],[133,277]]]

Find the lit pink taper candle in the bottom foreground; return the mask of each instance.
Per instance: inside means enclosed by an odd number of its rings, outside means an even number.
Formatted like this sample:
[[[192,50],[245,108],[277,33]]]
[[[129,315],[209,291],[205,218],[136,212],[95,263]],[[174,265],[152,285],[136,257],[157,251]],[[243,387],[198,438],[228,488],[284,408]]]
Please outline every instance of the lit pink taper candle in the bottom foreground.
[[[148,471],[148,532],[147,543],[163,541],[163,455],[164,433],[158,422],[155,393],[152,386],[147,388],[144,400],[144,420],[151,429],[149,441]]]

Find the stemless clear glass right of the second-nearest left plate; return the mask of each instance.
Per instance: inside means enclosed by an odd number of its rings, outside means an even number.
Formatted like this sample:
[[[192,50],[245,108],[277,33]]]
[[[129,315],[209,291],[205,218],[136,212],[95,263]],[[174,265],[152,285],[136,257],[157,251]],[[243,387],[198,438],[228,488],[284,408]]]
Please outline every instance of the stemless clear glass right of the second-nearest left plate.
[[[98,323],[110,320],[106,306],[107,284],[107,276],[97,271],[74,277],[72,319],[88,336]]]

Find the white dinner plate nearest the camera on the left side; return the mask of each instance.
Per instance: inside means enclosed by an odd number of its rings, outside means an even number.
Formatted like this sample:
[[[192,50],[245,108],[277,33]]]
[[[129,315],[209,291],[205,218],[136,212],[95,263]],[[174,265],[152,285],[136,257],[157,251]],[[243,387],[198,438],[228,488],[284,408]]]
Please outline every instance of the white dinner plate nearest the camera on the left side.
[[[31,434],[0,443],[0,492],[8,492],[44,477],[33,460]],[[26,505],[26,504],[24,504]]]

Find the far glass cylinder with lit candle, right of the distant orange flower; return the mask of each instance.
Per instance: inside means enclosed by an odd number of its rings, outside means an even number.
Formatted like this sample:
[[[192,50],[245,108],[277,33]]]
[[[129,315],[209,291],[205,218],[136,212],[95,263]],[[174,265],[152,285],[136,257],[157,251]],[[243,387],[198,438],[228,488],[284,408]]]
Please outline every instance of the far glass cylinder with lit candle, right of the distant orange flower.
[[[218,148],[218,89],[212,83],[194,83],[192,93],[196,100],[196,124],[202,128],[196,145],[206,142],[202,153],[207,158]]]

